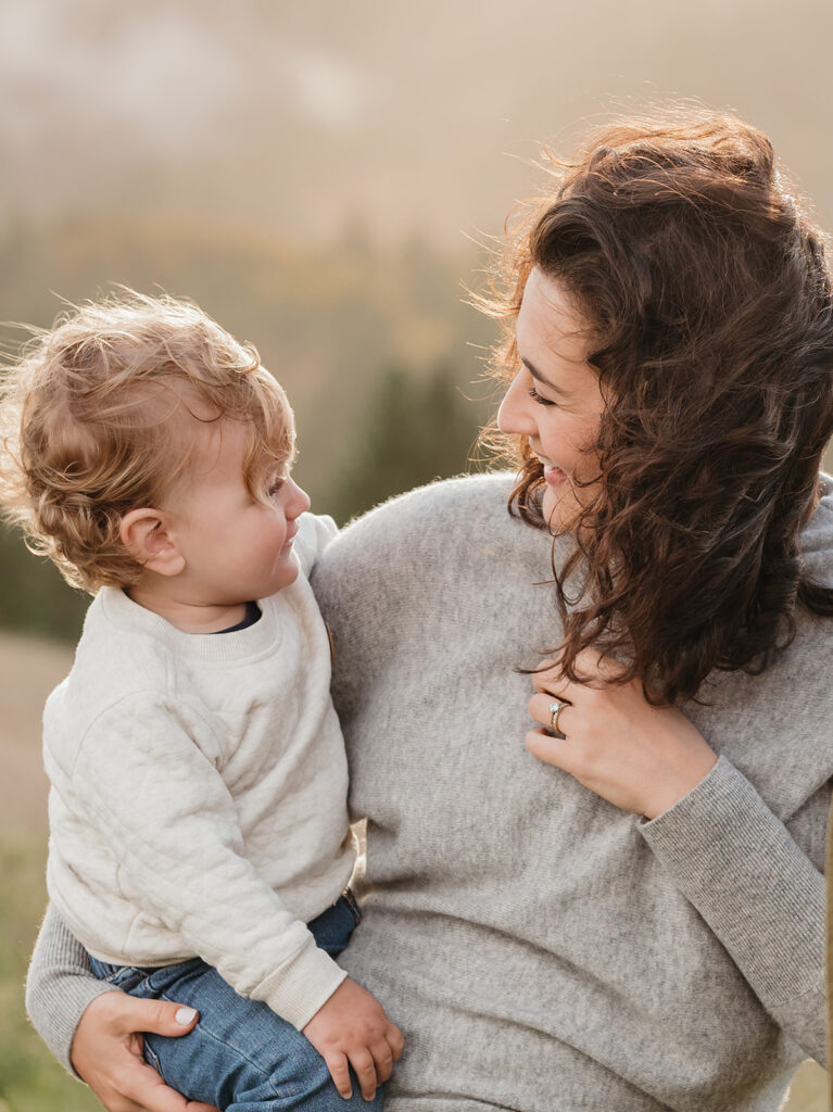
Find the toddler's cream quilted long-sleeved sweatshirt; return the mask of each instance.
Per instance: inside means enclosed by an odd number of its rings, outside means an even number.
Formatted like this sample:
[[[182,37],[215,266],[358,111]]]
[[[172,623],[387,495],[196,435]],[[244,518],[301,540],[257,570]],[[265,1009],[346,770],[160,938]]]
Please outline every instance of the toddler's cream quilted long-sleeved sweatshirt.
[[[236,633],[182,633],[103,588],[43,721],[49,894],[88,951],[119,965],[199,955],[299,1029],[345,977],[305,924],[354,865],[306,578],[335,532],[304,515],[303,573]]]

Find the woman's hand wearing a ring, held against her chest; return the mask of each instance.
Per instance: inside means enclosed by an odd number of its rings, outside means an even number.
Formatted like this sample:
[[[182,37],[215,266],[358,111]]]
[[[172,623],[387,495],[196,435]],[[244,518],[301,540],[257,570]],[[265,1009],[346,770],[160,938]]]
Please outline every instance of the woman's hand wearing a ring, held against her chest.
[[[587,649],[576,664],[587,683],[566,679],[557,661],[542,662],[529,713],[547,728],[530,731],[526,747],[614,806],[655,818],[703,780],[716,754],[676,707],[652,706],[637,679],[607,683],[614,661]],[[569,704],[558,715],[563,738],[548,733],[554,697]]]

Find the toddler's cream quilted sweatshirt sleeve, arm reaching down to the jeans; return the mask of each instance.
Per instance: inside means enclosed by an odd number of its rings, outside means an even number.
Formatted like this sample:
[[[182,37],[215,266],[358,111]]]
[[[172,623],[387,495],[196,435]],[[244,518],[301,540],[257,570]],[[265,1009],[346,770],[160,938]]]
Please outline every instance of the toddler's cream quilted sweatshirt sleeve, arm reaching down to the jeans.
[[[300,1030],[346,974],[244,855],[235,801],[176,708],[135,695],[115,712],[116,721],[102,715],[85,737],[72,787],[120,862],[128,897],[240,995],[265,1001]],[[113,761],[117,726],[123,744]],[[72,913],[70,927],[95,939],[82,904]]]

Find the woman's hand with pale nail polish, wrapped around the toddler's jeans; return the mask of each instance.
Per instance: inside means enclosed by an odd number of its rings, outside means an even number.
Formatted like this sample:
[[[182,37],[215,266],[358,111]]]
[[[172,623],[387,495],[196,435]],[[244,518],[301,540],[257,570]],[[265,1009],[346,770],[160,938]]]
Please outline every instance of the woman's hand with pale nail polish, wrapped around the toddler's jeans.
[[[218,1112],[168,1089],[142,1058],[142,1031],[177,1037],[197,1022],[192,1007],[106,992],[88,1004],[70,1058],[108,1112]]]

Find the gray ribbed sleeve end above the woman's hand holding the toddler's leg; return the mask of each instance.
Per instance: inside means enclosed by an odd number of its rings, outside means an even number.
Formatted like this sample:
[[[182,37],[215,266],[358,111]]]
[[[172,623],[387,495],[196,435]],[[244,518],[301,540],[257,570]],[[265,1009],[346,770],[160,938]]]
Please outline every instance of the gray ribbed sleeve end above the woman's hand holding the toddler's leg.
[[[81,1016],[97,996],[119,991],[92,975],[87,951],[50,904],[29,964],[26,1010],[40,1037],[75,1076],[70,1051]]]

